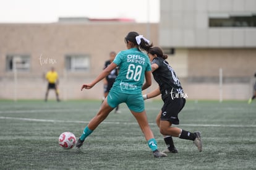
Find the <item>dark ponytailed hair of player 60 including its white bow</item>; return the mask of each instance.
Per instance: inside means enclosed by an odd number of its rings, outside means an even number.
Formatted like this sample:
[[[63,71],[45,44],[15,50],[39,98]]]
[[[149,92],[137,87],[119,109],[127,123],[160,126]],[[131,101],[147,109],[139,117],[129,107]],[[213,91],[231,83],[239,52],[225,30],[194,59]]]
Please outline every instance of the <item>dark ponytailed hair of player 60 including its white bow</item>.
[[[131,41],[134,45],[139,46],[141,51],[150,51],[153,44],[150,44],[150,41],[147,38],[143,37],[143,35],[139,35],[137,32],[129,32],[126,38],[126,41]]]

